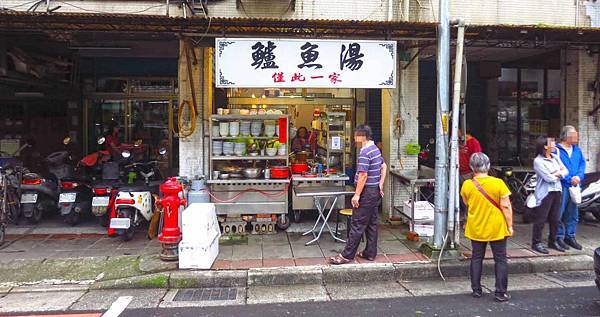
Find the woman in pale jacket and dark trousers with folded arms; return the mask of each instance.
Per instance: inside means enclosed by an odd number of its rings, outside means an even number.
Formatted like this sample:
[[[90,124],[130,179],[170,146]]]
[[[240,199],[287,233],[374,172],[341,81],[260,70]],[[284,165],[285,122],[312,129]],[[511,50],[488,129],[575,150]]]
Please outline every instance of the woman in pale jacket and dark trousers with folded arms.
[[[559,252],[565,249],[556,242],[558,224],[560,222],[560,200],[562,196],[561,177],[568,175],[568,171],[560,158],[553,154],[556,144],[553,138],[540,136],[535,143],[536,158],[533,160],[533,169],[537,176],[535,186],[536,207],[534,210],[533,234],[531,248],[539,253],[548,254],[542,244],[542,231],[548,222],[548,247]]]

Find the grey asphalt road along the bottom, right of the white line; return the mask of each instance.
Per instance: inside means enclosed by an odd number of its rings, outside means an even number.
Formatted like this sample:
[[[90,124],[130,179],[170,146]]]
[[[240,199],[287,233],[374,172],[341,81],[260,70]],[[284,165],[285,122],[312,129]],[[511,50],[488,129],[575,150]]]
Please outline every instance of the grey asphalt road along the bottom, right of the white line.
[[[489,294],[402,297],[376,300],[243,305],[203,308],[133,309],[121,316],[600,316],[595,287],[553,288],[512,292],[509,303]]]

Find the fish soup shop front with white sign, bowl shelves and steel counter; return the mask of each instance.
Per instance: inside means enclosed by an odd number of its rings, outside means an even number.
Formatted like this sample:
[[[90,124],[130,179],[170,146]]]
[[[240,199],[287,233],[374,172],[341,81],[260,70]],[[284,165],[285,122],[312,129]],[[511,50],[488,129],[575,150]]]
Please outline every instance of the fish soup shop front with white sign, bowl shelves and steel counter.
[[[396,43],[221,38],[214,78],[210,201],[224,233],[273,233],[307,211],[320,210],[318,223],[346,207],[343,195],[321,203],[299,193],[351,190],[352,130],[381,108],[369,92],[396,86]]]

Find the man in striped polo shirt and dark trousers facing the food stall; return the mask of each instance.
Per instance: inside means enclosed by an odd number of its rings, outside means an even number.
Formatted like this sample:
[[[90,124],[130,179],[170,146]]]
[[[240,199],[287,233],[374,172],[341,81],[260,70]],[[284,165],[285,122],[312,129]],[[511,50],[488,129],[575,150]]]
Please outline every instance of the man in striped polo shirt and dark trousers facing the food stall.
[[[355,256],[373,261],[377,256],[377,212],[383,197],[387,166],[371,135],[371,128],[367,125],[360,125],[354,131],[354,141],[362,147],[354,176],[356,190],[352,197],[352,223],[348,228],[350,233],[344,251],[331,257],[331,264],[349,263]],[[367,245],[364,251],[357,254],[360,239],[365,233]]]

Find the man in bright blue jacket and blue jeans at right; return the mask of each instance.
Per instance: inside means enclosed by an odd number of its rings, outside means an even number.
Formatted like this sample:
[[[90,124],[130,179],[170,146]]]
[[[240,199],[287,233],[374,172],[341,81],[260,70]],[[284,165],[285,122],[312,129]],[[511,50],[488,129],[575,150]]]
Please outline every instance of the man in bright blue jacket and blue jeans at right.
[[[565,249],[571,246],[577,250],[581,250],[581,245],[575,240],[577,223],[579,222],[579,210],[577,209],[577,205],[571,201],[571,195],[569,194],[569,188],[580,186],[585,175],[585,159],[581,148],[577,146],[578,141],[579,136],[575,127],[567,125],[562,128],[560,143],[556,147],[561,161],[569,170],[569,174],[561,178],[561,222],[558,226],[556,243]]]

